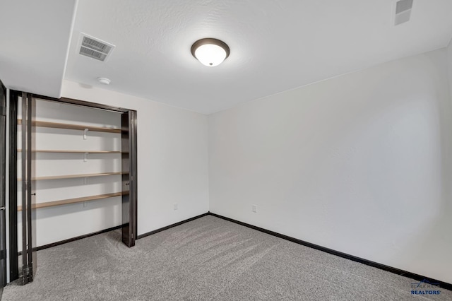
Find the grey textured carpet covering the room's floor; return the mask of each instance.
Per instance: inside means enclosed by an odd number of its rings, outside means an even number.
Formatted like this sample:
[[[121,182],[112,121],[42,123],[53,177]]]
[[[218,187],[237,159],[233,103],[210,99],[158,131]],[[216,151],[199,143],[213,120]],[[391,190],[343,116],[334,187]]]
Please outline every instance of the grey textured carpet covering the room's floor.
[[[452,300],[410,278],[204,216],[136,241],[119,230],[37,252],[2,300]]]

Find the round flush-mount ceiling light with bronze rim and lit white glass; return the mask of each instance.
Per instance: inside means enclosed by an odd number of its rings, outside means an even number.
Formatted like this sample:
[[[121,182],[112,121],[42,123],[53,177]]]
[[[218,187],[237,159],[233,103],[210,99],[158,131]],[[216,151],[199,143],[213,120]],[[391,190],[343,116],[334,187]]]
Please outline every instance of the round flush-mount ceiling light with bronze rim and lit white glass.
[[[208,37],[194,42],[191,46],[191,54],[201,61],[201,64],[213,67],[229,57],[230,49],[225,42]]]

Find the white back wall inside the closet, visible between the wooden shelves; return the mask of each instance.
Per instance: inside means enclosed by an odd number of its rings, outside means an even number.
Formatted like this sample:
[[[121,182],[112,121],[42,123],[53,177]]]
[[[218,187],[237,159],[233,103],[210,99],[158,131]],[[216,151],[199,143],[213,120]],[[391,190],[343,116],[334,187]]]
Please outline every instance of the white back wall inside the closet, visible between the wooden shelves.
[[[59,102],[36,100],[33,119],[63,124],[81,124],[119,129],[120,114],[88,107],[66,105]],[[20,114],[20,106],[19,106]],[[20,126],[18,127],[20,136]],[[20,148],[20,139],[18,139]],[[32,134],[33,150],[65,151],[121,151],[121,134],[88,131],[86,139],[82,130],[58,129],[36,126]],[[32,177],[59,175],[86,175],[100,172],[120,172],[120,153],[40,153],[32,155]],[[20,156],[18,175],[20,177]],[[121,175],[87,177],[74,179],[44,179],[32,182],[36,203],[73,199],[121,191]],[[18,185],[18,200],[21,187]],[[20,201],[19,201],[20,204]],[[71,237],[97,232],[121,225],[121,196],[84,203],[37,208],[37,246],[66,240]],[[21,214],[18,214],[18,229],[21,228]],[[18,231],[18,242],[22,232]],[[21,244],[19,243],[19,251]]]

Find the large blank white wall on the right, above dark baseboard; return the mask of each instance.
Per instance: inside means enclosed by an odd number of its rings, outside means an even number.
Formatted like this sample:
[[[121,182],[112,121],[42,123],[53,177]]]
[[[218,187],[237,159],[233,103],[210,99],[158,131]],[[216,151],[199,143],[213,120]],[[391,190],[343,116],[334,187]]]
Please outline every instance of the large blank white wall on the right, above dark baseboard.
[[[445,61],[440,49],[210,115],[210,211],[452,283]]]

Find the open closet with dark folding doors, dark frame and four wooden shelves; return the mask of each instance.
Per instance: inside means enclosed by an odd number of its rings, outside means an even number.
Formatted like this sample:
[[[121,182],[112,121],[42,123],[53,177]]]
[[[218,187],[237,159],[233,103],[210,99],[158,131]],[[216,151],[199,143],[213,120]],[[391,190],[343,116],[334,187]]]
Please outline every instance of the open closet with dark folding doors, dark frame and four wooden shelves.
[[[37,250],[100,232],[133,247],[136,111],[11,91],[9,115],[10,281],[32,281]]]

